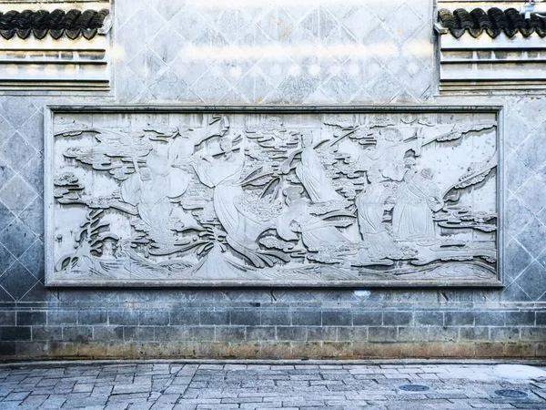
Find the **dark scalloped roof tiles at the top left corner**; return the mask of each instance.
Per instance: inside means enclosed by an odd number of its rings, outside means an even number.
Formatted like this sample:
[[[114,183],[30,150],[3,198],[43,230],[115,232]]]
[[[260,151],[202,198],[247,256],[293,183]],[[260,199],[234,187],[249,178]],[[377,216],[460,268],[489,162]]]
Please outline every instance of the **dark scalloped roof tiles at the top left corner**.
[[[13,36],[27,38],[32,33],[42,39],[47,34],[53,38],[66,35],[71,39],[83,35],[87,39],[96,35],[97,29],[102,27],[108,10],[15,10],[0,13],[0,36],[10,39]]]

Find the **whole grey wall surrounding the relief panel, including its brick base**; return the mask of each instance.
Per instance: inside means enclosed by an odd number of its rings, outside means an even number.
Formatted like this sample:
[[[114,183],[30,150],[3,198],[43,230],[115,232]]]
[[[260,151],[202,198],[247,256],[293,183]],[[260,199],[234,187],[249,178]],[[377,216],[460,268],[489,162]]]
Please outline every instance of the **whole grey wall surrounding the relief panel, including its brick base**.
[[[205,4],[206,3],[206,4]],[[438,97],[432,2],[116,0],[111,96],[0,97],[0,354],[546,355],[546,104]],[[45,289],[46,104],[504,106],[505,287]]]

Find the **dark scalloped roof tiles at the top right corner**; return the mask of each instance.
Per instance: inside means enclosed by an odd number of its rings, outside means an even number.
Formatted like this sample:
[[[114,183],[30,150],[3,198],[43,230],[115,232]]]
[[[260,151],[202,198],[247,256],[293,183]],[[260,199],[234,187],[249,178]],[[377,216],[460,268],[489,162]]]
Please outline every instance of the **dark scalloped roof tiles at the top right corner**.
[[[438,20],[442,27],[448,28],[451,35],[459,38],[465,32],[470,36],[480,36],[484,31],[495,38],[501,33],[513,37],[518,33],[528,37],[531,34],[544,37],[546,36],[546,19],[538,15],[531,14],[531,18],[525,19],[515,8],[501,10],[492,7],[485,11],[481,8],[475,8],[472,11],[458,8],[450,12],[442,8],[438,12]]]

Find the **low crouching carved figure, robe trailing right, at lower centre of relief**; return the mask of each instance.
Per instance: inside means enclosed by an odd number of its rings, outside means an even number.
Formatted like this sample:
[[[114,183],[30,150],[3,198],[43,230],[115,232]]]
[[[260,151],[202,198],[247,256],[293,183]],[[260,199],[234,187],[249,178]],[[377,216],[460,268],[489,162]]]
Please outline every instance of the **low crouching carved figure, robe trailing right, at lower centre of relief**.
[[[350,246],[349,239],[336,228],[335,221],[322,220],[309,212],[309,202],[301,197],[301,187],[283,191],[288,210],[278,216],[277,233],[285,241],[298,241],[298,233],[308,251],[336,251]]]

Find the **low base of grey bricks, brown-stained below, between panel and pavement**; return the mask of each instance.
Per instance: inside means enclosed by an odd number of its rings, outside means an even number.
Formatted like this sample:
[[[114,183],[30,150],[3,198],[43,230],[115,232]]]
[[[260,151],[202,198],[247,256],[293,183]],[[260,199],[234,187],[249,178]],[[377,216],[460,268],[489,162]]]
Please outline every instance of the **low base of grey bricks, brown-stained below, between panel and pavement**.
[[[0,352],[5,360],[546,357],[541,305],[197,302],[213,295],[195,292],[195,302],[4,305]]]

